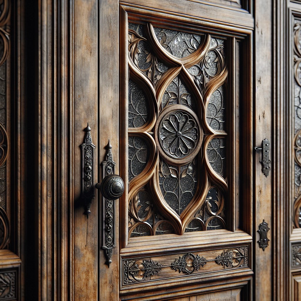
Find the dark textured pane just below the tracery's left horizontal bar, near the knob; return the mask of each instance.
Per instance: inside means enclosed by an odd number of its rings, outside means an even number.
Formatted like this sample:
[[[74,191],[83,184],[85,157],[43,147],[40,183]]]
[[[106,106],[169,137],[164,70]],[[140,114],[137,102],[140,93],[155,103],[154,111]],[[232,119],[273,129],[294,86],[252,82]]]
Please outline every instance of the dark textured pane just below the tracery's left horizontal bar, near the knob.
[[[148,148],[146,142],[137,136],[129,136],[129,180],[138,175],[146,166]]]

